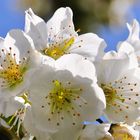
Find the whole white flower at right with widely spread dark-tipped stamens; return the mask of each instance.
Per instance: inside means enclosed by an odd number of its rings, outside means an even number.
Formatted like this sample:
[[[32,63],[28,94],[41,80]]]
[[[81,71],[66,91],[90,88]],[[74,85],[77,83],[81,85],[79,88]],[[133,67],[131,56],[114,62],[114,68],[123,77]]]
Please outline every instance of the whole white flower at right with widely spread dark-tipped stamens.
[[[140,69],[132,57],[108,52],[96,65],[98,84],[106,96],[106,115],[113,122],[133,122],[140,116]]]

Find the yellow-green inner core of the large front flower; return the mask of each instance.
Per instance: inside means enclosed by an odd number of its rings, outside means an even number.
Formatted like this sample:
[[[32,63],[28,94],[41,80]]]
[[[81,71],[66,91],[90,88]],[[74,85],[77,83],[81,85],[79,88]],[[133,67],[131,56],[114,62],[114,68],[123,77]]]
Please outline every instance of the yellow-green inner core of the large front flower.
[[[51,112],[68,111],[72,107],[72,100],[79,98],[81,88],[65,88],[58,80],[53,81],[54,87],[48,97],[51,103]]]

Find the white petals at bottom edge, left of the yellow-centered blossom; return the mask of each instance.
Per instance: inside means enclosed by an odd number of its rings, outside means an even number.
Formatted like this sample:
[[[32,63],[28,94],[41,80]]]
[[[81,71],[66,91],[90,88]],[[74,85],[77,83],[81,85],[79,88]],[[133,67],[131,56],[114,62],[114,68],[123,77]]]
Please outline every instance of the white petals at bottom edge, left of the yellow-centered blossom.
[[[78,140],[113,140],[108,132],[110,124],[87,125],[81,132]],[[106,137],[106,139],[104,139]]]

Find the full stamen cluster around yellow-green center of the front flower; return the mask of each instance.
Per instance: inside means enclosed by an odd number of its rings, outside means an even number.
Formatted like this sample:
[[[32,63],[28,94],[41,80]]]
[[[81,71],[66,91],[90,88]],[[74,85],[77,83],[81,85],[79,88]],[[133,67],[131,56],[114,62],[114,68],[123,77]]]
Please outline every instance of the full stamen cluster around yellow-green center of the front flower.
[[[51,120],[57,118],[57,127],[65,120],[66,114],[71,116],[71,125],[75,126],[76,120],[81,117],[81,108],[87,106],[87,101],[81,96],[82,93],[83,88],[73,87],[72,82],[62,83],[59,80],[53,80],[52,89],[44,97],[45,104],[42,104],[44,107],[41,108],[44,111],[49,109],[48,118]]]

